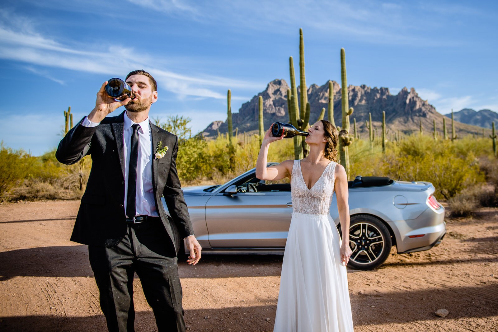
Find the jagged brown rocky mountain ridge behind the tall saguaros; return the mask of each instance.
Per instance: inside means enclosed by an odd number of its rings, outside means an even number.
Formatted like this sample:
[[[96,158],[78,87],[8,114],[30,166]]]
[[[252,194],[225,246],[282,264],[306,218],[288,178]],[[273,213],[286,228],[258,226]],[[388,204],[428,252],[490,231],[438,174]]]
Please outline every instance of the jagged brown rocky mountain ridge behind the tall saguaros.
[[[336,81],[332,81],[334,89],[334,120],[337,125],[342,122],[341,110],[341,87]],[[275,79],[268,83],[266,89],[249,102],[242,104],[238,113],[232,113],[233,128],[239,128],[239,133],[257,132],[258,122],[258,98],[263,97],[263,119],[264,127],[269,127],[272,122],[288,122],[287,111],[287,89],[289,85],[283,79]],[[310,123],[313,123],[319,116],[322,108],[327,110],[329,82],[318,86],[312,84],[308,88],[308,102],[311,107]],[[298,95],[300,89],[298,87]],[[388,128],[400,130],[405,134],[419,130],[419,121],[422,121],[424,132],[433,131],[433,119],[436,119],[437,130],[442,134],[443,114],[436,111],[434,106],[428,101],[422,100],[415,89],[403,88],[397,95],[391,95],[388,88],[368,87],[366,85],[348,87],[349,106],[354,108],[354,113],[350,116],[351,127],[354,118],[357,121],[357,130],[360,133],[367,132],[365,121],[369,119],[369,112],[372,113],[372,121],[376,128],[379,128],[382,121],[382,111],[385,111],[385,120]],[[327,118],[328,111],[325,112]],[[446,121],[448,130],[451,130],[451,122]],[[457,133],[481,132],[482,128],[461,122],[455,123]],[[216,137],[220,133],[228,130],[228,125],[223,121],[214,121],[203,130],[205,137]]]

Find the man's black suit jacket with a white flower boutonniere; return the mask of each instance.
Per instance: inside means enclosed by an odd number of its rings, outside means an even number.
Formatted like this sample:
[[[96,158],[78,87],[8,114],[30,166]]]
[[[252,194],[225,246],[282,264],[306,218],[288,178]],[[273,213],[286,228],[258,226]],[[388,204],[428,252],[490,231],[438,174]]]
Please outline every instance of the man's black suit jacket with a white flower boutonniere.
[[[82,121],[68,131],[55,153],[57,160],[67,165],[78,162],[85,155],[92,157],[92,169],[71,241],[109,248],[121,242],[127,227],[124,214],[124,112],[106,117],[96,127],[85,127],[81,125]],[[194,233],[176,170],[178,137],[150,120],[149,124],[152,152],[155,153],[159,141],[168,146],[164,157],[152,160],[152,186],[156,211],[169,235],[165,241],[177,248],[182,238]],[[171,219],[161,203],[163,195]],[[180,238],[175,236],[176,231]]]

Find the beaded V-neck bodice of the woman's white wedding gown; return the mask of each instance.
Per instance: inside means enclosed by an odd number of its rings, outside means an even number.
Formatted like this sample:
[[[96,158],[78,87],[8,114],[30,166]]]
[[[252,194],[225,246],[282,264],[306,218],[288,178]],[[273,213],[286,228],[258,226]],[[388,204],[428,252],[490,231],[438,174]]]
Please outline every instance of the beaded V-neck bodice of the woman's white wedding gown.
[[[337,163],[331,161],[318,181],[308,189],[301,171],[301,161],[294,160],[290,180],[292,210],[311,215],[328,215],[334,194],[335,169]]]

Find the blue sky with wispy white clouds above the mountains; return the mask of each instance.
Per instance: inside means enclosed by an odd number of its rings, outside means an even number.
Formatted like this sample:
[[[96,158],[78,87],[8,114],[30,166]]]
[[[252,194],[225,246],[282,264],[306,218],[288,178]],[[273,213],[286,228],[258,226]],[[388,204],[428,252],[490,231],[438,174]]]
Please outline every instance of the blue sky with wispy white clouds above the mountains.
[[[78,121],[104,81],[135,69],[158,82],[150,116],[189,116],[197,132],[226,119],[228,89],[237,111],[269,81],[288,81],[299,28],[308,86],[340,81],[344,47],[348,84],[392,94],[413,87],[443,114],[498,111],[497,9],[497,1],[2,1],[0,140],[48,151],[68,106]]]

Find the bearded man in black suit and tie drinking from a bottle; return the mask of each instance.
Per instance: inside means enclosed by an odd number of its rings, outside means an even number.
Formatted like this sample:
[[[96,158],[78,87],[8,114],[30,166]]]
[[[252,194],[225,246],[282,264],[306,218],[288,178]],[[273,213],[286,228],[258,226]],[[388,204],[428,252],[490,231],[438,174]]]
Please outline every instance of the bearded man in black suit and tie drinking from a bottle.
[[[177,248],[182,238],[186,240],[187,262],[195,265],[201,246],[193,235],[176,170],[178,137],[148,119],[157,101],[154,78],[136,70],[126,76],[126,83],[133,99],[110,98],[105,82],[93,111],[57,148],[57,160],[64,164],[92,157],[71,240],[88,244],[109,331],[134,331],[135,272],[159,331],[185,331]],[[106,117],[120,106],[126,111]]]

